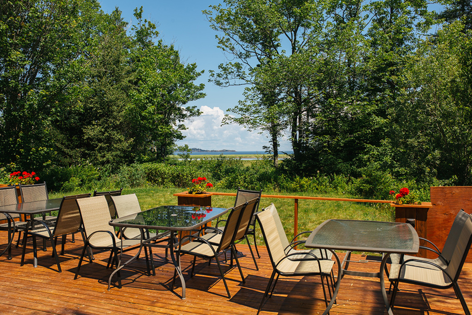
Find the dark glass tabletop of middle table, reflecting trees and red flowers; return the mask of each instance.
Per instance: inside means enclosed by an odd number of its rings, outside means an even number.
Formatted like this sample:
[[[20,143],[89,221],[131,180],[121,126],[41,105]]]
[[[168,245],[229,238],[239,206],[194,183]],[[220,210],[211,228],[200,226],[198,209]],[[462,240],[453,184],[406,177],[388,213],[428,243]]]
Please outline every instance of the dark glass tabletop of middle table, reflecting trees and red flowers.
[[[113,219],[110,221],[110,225],[127,228],[191,230],[218,218],[227,211],[226,208],[213,207],[160,206]]]

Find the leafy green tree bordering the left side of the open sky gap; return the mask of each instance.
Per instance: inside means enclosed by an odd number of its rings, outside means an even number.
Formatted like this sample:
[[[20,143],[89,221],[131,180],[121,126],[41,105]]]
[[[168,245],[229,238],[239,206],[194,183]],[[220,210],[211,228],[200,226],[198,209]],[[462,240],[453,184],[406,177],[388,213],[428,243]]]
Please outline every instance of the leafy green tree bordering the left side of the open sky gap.
[[[188,102],[202,98],[203,84],[195,85],[203,71],[195,63],[184,64],[173,45],[162,40],[156,26],[142,18],[143,8],[135,9],[138,25],[133,26],[129,61],[135,73],[131,102],[126,106],[128,123],[133,126],[134,148],[142,157],[163,159],[169,155],[176,140],[184,137],[183,122],[201,112]]]

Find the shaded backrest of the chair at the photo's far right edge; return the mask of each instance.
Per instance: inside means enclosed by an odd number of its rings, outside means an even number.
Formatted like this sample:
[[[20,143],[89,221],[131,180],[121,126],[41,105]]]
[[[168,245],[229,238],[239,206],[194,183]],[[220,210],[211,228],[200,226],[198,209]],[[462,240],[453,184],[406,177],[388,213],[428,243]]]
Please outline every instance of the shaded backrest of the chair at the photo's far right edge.
[[[464,210],[460,210],[460,212],[464,212]],[[457,281],[459,278],[472,243],[472,215],[467,213],[465,213],[465,215],[468,218],[463,221],[462,227],[458,227],[459,231],[457,232],[459,233],[459,237],[454,246],[451,261],[446,268],[447,273],[454,278],[454,281]]]

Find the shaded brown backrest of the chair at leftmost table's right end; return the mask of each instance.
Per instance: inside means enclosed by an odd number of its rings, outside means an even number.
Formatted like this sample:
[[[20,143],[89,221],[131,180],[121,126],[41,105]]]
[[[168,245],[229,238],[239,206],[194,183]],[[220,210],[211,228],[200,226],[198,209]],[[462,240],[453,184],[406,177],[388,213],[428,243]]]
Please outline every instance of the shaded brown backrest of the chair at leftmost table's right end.
[[[62,198],[54,226],[54,236],[75,233],[80,229],[82,220],[80,219],[79,207],[77,206],[76,200],[87,197],[90,197],[90,193],[65,196]]]

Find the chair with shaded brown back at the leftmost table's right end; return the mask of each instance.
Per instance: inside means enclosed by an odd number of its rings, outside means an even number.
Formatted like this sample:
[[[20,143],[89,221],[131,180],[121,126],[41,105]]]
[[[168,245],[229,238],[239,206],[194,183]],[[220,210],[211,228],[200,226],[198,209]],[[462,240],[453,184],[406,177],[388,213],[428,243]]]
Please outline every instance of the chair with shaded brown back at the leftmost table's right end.
[[[81,219],[76,200],[87,197],[90,197],[90,193],[63,197],[60,203],[60,208],[57,220],[54,224],[54,228],[50,228],[50,226],[42,220],[33,219],[28,221],[23,235],[23,252],[21,254],[21,266],[25,264],[26,239],[28,235],[30,235],[33,237],[34,267],[36,267],[38,260],[36,249],[36,237],[41,237],[42,239],[49,239],[51,241],[52,256],[56,259],[58,271],[62,272],[59,263],[59,256],[56,251],[57,240],[59,236],[62,236],[60,254],[64,255],[64,245],[66,243],[67,235],[74,235],[74,233],[81,232]],[[29,228],[32,228],[33,225],[39,225],[40,228],[35,227],[33,230],[30,230]]]

